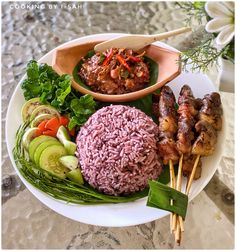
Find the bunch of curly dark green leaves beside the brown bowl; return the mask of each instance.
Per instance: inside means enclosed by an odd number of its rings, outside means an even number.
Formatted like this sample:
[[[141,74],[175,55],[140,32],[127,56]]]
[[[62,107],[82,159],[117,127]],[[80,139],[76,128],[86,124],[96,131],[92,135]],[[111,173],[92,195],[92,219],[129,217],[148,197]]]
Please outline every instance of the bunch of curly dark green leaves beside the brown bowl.
[[[71,87],[71,76],[59,76],[51,66],[38,65],[34,60],[28,63],[26,72],[27,78],[21,85],[25,99],[40,97],[43,104],[51,104],[61,114],[68,114],[69,129],[83,125],[95,112],[93,97],[78,94]]]

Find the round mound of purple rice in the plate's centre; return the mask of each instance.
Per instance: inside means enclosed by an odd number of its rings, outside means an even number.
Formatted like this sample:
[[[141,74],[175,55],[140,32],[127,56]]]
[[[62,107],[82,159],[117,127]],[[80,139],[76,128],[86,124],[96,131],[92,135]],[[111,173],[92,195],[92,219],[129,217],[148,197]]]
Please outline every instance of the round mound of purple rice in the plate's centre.
[[[157,125],[138,109],[110,105],[98,110],[76,139],[85,180],[110,195],[143,190],[162,170],[157,134]]]

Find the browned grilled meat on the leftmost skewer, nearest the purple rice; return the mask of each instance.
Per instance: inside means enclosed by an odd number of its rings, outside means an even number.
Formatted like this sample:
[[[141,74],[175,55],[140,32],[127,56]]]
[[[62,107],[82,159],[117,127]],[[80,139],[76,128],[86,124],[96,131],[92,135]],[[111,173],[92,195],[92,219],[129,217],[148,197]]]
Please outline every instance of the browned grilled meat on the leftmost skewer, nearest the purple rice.
[[[168,86],[161,89],[159,100],[159,153],[163,158],[163,163],[169,160],[174,163],[179,159],[179,154],[175,144],[175,134],[177,132],[177,118],[175,111],[175,96]]]

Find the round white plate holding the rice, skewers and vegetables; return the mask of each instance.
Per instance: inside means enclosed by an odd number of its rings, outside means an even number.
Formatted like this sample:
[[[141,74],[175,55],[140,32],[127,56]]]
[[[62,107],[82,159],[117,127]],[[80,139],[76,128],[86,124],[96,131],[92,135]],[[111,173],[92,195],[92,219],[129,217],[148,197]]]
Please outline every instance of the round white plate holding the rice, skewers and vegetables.
[[[117,34],[117,33],[97,34],[75,39],[66,44],[63,44],[62,46],[64,47],[68,45],[75,45],[88,41],[100,41],[103,39],[106,40],[121,35],[122,34]],[[162,47],[175,50],[174,48],[160,42],[157,42],[156,44]],[[47,53],[44,57],[42,57],[39,60],[39,62],[51,64],[52,55],[53,55],[53,50]],[[12,95],[11,101],[9,103],[7,118],[6,118],[6,140],[10,159],[12,161],[14,168],[16,169],[17,174],[20,176],[25,186],[36,196],[36,198],[38,198],[42,203],[44,203],[49,208],[51,208],[52,210],[56,211],[59,214],[62,214],[68,218],[71,218],[79,222],[99,225],[99,226],[121,227],[121,226],[137,225],[162,218],[163,216],[169,214],[169,212],[167,211],[147,207],[146,198],[130,203],[107,204],[107,205],[96,205],[96,206],[67,204],[65,202],[53,199],[52,197],[48,196],[47,194],[39,191],[38,189],[30,185],[19,173],[12,155],[12,149],[14,147],[14,142],[15,142],[15,134],[21,123],[21,107],[25,102],[23,93],[20,88],[22,80],[17,85]],[[174,79],[169,83],[170,87],[174,90],[176,97],[181,89],[181,86],[183,86],[184,84],[188,84],[189,86],[191,86],[194,95],[199,98],[202,98],[206,93],[215,91],[214,85],[206,75],[182,73],[176,79]],[[224,145],[225,128],[226,126],[224,125],[223,130],[219,134],[218,143],[214,155],[202,159],[203,162],[202,177],[201,179],[193,183],[191,188],[191,193],[189,195],[190,200],[193,199],[202,191],[202,189],[210,181],[210,179],[212,178],[213,174],[215,173],[218,167],[218,163],[222,153],[222,148]],[[184,185],[185,183],[183,183],[183,188]]]

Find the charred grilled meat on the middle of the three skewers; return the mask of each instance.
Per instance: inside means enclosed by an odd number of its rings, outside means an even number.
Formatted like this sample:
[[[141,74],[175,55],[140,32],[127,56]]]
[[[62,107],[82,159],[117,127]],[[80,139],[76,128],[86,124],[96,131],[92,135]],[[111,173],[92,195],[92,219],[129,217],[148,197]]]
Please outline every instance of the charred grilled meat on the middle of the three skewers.
[[[196,103],[196,99],[188,85],[184,85],[181,88],[178,104],[179,118],[176,146],[179,153],[189,154],[194,139],[193,128],[196,123],[196,115],[198,114],[196,109],[198,103]]]

